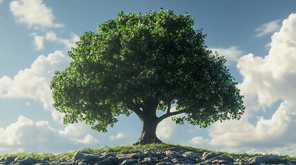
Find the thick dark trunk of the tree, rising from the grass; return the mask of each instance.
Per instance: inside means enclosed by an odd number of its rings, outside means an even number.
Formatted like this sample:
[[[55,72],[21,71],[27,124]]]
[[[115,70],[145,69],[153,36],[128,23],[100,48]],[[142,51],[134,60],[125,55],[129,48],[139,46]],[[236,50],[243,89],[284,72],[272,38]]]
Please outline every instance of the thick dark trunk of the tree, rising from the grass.
[[[151,143],[162,143],[161,140],[156,135],[156,128],[158,122],[158,118],[154,113],[146,113],[143,118],[141,118],[142,122],[142,133],[139,140],[135,143],[137,144],[151,144]]]

